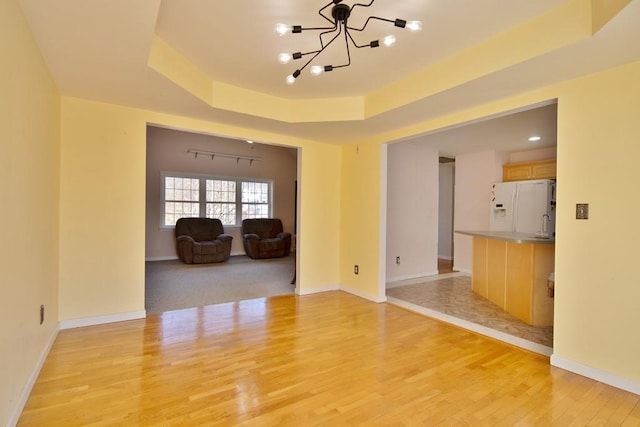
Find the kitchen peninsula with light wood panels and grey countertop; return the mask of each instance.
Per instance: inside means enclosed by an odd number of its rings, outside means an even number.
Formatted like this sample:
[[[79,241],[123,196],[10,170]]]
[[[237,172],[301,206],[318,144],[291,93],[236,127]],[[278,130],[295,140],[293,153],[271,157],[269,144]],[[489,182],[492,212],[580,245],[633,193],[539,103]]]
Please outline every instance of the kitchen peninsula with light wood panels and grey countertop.
[[[554,271],[554,239],[507,231],[456,233],[473,237],[475,293],[530,325],[553,325],[547,279]]]

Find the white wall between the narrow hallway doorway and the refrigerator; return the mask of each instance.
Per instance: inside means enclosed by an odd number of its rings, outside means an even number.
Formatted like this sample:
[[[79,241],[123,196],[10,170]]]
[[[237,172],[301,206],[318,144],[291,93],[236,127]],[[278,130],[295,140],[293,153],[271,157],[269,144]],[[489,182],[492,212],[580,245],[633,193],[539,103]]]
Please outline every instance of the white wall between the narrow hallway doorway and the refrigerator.
[[[489,229],[491,184],[502,181],[507,154],[497,151],[456,156],[454,230]],[[472,238],[454,233],[454,269],[471,273]]]

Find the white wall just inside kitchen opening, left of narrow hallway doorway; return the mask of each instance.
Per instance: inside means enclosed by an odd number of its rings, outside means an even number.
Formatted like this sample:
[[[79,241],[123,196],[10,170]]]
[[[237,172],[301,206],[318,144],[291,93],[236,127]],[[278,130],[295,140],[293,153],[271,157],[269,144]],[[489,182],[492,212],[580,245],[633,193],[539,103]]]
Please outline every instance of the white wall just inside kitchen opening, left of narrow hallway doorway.
[[[437,274],[438,151],[391,144],[387,165],[387,281]]]

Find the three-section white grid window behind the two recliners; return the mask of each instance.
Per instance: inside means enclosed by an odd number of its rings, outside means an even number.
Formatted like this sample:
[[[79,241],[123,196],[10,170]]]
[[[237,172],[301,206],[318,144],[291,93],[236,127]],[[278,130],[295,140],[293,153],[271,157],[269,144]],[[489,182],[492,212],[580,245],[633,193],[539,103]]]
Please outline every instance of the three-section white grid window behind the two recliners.
[[[271,181],[163,173],[162,188],[162,227],[173,227],[182,217],[240,226],[243,219],[268,218],[272,212]]]

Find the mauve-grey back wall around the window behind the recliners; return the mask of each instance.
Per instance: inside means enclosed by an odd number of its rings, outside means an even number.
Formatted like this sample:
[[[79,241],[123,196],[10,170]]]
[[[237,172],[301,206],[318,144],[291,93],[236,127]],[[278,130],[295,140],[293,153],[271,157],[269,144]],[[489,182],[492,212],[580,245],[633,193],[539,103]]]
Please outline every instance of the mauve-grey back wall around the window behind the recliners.
[[[260,157],[249,164],[234,159],[214,158],[187,153],[200,149],[226,154]],[[147,127],[147,191],[146,246],[147,260],[176,258],[173,228],[160,228],[160,173],[187,172],[244,178],[273,179],[273,216],[280,218],[285,231],[294,234],[295,181],[297,153],[295,149],[221,138],[190,132]],[[233,236],[231,254],[244,254],[240,227],[225,227]]]

